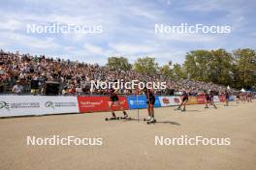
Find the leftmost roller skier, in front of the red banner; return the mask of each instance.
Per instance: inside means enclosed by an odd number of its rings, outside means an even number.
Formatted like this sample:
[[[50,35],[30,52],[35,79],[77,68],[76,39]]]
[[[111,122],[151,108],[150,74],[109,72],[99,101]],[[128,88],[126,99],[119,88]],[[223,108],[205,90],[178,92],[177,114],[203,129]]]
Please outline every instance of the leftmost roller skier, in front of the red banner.
[[[117,90],[114,90],[112,87],[108,91],[106,91],[106,93],[108,93],[110,95],[109,108],[110,108],[110,110],[112,112],[112,119],[116,119],[116,116],[115,116],[114,111],[112,109],[113,104],[116,104],[120,108],[120,110],[122,110],[123,115],[124,115],[123,118],[127,119],[128,118],[128,114],[126,113],[124,108],[121,106],[120,101],[118,99],[118,96],[116,95],[116,91]]]

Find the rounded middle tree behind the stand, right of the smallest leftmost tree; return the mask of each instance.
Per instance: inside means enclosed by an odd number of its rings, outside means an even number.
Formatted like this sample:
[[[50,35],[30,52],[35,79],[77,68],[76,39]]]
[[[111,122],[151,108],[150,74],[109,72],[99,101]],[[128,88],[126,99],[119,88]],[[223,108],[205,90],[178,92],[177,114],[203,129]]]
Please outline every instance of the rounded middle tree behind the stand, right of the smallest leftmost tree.
[[[152,74],[155,73],[157,69],[158,64],[155,62],[155,58],[139,58],[134,64],[134,70],[141,73]]]

